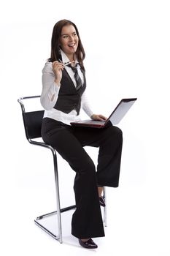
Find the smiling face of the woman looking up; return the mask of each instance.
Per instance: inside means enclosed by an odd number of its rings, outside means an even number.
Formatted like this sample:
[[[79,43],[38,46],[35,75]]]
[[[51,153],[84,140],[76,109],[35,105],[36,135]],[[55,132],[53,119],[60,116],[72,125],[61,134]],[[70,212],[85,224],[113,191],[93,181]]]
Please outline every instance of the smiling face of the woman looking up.
[[[61,31],[60,46],[66,56],[73,56],[77,50],[79,37],[77,36],[74,26],[63,26]]]

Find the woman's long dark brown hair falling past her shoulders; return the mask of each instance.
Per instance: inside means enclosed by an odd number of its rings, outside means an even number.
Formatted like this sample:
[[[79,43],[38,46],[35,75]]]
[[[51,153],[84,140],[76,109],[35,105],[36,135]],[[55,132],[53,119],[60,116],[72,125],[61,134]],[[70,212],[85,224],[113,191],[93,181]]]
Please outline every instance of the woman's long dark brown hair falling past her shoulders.
[[[59,20],[58,23],[55,24],[53,27],[53,34],[51,38],[51,56],[49,61],[57,61],[58,59],[61,59],[61,53],[60,53],[60,37],[61,37],[61,31],[63,29],[63,26],[72,25],[74,26],[74,29],[76,30],[77,36],[79,37],[79,42],[76,50],[76,57],[77,61],[79,61],[80,67],[85,70],[85,67],[83,65],[83,60],[85,59],[85,50],[82,46],[82,42],[80,39],[80,34],[77,29],[77,26],[70,20]]]

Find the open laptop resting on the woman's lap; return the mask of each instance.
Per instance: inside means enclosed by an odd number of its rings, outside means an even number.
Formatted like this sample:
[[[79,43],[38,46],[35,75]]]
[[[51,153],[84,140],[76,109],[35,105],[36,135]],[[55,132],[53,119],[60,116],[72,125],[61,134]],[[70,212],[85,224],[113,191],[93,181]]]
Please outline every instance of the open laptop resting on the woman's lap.
[[[94,128],[104,128],[111,122],[112,125],[119,124],[128,110],[134,105],[137,98],[127,98],[121,99],[115,110],[112,111],[109,118],[106,121],[96,121],[96,120],[81,120],[71,122],[73,126],[76,127],[94,127]]]

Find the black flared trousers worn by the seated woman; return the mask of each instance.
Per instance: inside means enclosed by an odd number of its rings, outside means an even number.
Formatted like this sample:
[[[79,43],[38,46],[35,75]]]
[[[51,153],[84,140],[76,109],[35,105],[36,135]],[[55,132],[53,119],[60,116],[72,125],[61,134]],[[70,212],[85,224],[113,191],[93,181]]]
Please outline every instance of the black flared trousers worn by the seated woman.
[[[112,125],[104,129],[72,127],[52,118],[43,118],[42,138],[76,172],[74,193],[77,208],[72,217],[72,235],[77,238],[104,236],[97,187],[118,187],[122,131]],[[99,147],[97,167],[83,146]]]

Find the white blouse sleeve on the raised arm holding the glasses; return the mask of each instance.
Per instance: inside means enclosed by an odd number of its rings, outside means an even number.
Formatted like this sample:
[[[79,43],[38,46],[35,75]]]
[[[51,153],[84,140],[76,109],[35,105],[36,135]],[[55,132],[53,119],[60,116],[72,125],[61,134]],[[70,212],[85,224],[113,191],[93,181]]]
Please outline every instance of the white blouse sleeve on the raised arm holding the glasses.
[[[42,94],[40,102],[45,110],[50,110],[55,106],[58,99],[60,87],[55,83],[55,75],[52,63],[47,62],[42,69]]]

